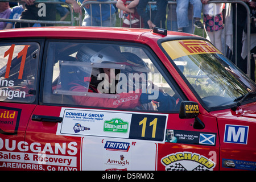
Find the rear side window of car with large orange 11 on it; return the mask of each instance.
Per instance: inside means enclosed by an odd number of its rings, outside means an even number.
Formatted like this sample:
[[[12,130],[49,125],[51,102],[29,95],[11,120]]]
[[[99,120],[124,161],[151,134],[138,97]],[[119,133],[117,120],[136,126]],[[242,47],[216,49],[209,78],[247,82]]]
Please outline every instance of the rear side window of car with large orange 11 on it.
[[[38,43],[0,44],[1,101],[34,102],[38,54]]]

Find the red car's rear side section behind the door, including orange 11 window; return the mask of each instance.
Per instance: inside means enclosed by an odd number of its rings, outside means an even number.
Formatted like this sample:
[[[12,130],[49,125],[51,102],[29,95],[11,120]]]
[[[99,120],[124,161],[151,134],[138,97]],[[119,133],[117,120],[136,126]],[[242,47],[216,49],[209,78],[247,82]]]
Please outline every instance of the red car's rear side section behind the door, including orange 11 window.
[[[25,132],[36,106],[42,41],[0,43],[0,169],[24,170],[28,151]]]

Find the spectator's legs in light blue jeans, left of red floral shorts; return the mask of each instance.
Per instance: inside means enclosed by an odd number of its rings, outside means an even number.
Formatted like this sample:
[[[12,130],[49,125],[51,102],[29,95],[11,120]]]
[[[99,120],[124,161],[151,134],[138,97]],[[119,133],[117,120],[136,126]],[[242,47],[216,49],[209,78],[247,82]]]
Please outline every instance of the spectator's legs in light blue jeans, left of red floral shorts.
[[[188,21],[188,5],[193,5],[193,26],[197,28],[203,28],[203,24],[200,22],[202,3],[200,0],[176,0],[177,1],[177,26],[178,31],[182,32],[184,27],[189,26]]]

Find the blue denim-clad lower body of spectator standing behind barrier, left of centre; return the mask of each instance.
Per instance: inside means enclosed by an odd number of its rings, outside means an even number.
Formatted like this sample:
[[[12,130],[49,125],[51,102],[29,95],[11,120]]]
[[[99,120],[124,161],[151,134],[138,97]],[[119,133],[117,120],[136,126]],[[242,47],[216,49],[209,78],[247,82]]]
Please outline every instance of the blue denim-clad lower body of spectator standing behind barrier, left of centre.
[[[98,1],[105,2],[108,0],[79,0],[81,3],[86,1]],[[82,21],[82,26],[102,26],[102,27],[114,27],[116,22],[115,7],[113,4],[92,4],[85,5],[85,17]]]

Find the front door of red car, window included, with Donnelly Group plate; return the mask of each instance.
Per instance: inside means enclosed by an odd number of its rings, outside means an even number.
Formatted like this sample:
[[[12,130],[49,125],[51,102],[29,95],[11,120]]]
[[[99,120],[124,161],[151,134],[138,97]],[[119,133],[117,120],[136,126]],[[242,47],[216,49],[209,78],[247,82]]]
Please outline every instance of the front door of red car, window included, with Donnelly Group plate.
[[[26,142],[30,144],[28,163],[41,170],[175,170],[179,165],[183,166],[179,169],[185,170],[218,169],[216,119],[206,115],[179,117],[179,106],[186,97],[146,46],[59,40],[48,41],[46,45],[42,98],[26,132]],[[133,64],[135,69],[129,67],[131,61],[117,62],[127,55],[123,52],[139,53],[140,59],[132,57],[138,61]],[[146,86],[147,90],[161,88],[165,91],[158,93],[164,98],[162,101],[172,100],[174,105],[160,107],[160,97],[151,94],[150,100],[155,101],[129,108],[127,103],[134,106],[139,95],[122,97],[117,94],[118,89],[123,89],[119,85],[115,85],[112,94],[93,92],[93,74],[98,76],[98,68],[105,66],[123,73],[119,75],[122,80],[126,69],[130,68],[128,73],[135,70],[147,84],[155,82],[154,87]],[[78,86],[81,80],[70,84],[73,76],[82,78],[82,88]],[[112,102],[104,102],[107,100]],[[194,127],[199,120],[205,127]],[[169,138],[169,131],[176,139]]]

